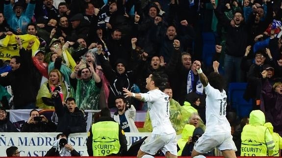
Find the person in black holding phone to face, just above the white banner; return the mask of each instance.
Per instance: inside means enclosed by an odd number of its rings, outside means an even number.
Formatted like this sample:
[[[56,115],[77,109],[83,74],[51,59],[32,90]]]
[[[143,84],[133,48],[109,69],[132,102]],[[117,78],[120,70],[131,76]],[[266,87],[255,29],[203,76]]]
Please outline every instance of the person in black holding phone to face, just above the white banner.
[[[57,126],[36,109],[29,113],[28,120],[22,125],[21,132],[55,132]]]

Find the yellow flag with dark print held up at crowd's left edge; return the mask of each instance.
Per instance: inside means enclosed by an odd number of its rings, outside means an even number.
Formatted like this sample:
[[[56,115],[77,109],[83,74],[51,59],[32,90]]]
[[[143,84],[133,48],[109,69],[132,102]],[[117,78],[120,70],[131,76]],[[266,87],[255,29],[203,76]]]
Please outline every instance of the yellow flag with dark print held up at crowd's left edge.
[[[32,56],[35,51],[38,50],[40,42],[34,35],[18,35],[22,40],[23,47],[26,48],[30,41],[34,41],[32,45]],[[16,35],[7,35],[5,38],[0,40],[0,59],[1,60],[10,60],[12,56],[19,55],[20,49],[16,41]]]

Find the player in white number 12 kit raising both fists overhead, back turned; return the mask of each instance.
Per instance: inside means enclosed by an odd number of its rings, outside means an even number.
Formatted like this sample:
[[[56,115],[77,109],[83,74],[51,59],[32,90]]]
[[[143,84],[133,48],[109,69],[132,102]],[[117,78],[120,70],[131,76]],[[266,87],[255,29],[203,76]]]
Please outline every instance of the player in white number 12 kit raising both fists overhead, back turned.
[[[225,158],[236,158],[237,148],[232,140],[231,126],[226,118],[227,95],[223,76],[218,73],[219,63],[213,62],[215,72],[208,78],[201,69],[201,62],[195,61],[201,83],[204,85],[205,99],[205,133],[195,143],[191,158],[203,155],[218,148]]]

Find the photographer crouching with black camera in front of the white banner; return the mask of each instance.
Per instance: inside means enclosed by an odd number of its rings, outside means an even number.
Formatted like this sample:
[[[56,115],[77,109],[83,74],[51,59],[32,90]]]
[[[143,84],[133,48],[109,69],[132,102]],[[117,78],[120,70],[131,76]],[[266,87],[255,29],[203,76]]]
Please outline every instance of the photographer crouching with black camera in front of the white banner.
[[[52,148],[44,157],[80,157],[80,154],[68,144],[68,135],[61,133],[56,136]]]

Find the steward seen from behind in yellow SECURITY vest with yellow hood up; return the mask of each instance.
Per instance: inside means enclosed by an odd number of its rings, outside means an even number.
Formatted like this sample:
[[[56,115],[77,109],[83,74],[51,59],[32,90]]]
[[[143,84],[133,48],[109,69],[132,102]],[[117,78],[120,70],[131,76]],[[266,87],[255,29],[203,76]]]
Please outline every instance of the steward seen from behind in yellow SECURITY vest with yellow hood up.
[[[250,121],[245,125],[241,134],[241,157],[272,156],[274,141],[270,131],[263,126],[264,113],[254,110],[250,113]]]

